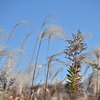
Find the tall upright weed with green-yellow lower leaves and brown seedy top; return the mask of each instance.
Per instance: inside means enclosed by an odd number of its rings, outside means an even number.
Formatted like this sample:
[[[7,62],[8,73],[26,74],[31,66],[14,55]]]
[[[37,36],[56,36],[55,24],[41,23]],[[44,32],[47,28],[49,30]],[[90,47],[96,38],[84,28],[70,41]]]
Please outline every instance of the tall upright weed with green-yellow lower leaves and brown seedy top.
[[[72,62],[67,70],[68,74],[66,74],[66,88],[68,89],[70,100],[75,100],[79,96],[80,85],[82,84],[82,76],[80,75],[82,58],[80,58],[80,54],[87,47],[80,30],[78,30],[77,34],[72,33],[72,38],[73,40],[67,40],[69,46],[65,49],[66,58]]]

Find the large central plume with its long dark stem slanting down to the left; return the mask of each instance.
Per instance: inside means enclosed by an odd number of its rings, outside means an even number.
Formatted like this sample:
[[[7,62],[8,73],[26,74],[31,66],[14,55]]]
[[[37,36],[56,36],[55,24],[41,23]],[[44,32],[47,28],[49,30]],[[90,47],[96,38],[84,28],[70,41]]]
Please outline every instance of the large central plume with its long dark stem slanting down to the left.
[[[51,15],[49,15],[48,17],[50,17],[50,16]],[[45,19],[42,27],[45,25],[45,23],[48,22],[48,17]],[[52,40],[53,37],[58,37],[59,39],[65,38],[63,36],[64,34],[65,34],[65,32],[62,30],[62,27],[57,26],[57,25],[50,25],[47,28],[45,28],[44,31],[42,32],[41,37],[40,37],[40,41],[39,41],[38,50],[37,50],[37,56],[36,56],[36,61],[35,61],[35,68],[34,68],[33,79],[32,79],[32,86],[33,86],[33,83],[34,83],[36,66],[37,66],[37,62],[38,62],[38,56],[39,56],[39,51],[40,51],[40,47],[41,47],[42,41],[44,40],[44,38],[46,36],[49,38],[49,42],[50,42],[50,40]],[[38,36],[40,36],[40,35],[38,35]],[[36,41],[36,44],[37,44],[37,41]]]

